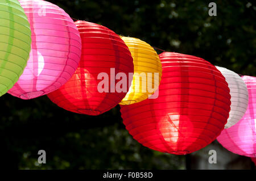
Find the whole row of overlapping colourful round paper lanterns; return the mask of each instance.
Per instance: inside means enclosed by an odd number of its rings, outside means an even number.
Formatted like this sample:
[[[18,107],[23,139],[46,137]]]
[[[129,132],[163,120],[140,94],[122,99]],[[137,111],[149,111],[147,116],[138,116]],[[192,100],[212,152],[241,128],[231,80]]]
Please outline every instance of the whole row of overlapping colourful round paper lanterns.
[[[127,131],[147,148],[184,155],[217,138],[256,157],[256,77],[195,56],[158,55],[43,0],[0,1],[0,14],[0,96],[47,95],[86,115],[120,104]]]

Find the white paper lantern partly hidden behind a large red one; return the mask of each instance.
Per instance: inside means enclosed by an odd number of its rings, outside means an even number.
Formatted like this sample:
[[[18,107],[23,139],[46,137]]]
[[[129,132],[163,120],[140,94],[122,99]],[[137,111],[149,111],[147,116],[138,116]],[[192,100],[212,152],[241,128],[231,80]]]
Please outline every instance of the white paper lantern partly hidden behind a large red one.
[[[228,123],[225,125],[225,128],[230,128],[245,114],[248,106],[248,91],[245,82],[243,82],[240,75],[226,68],[219,66],[216,66],[216,68],[220,70],[222,75],[225,77],[230,89],[231,109],[229,112]]]

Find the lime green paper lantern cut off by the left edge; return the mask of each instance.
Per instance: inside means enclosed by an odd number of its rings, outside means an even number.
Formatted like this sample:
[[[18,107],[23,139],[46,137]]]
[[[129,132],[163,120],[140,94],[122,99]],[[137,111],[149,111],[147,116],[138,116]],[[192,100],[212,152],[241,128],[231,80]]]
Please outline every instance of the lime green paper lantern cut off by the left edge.
[[[0,96],[16,83],[27,65],[31,30],[17,0],[0,1]]]

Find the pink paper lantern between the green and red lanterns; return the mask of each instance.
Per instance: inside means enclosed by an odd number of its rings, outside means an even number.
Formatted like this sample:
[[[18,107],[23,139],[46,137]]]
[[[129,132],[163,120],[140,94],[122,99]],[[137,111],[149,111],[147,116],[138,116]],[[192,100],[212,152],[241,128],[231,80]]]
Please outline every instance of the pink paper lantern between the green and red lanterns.
[[[42,0],[20,0],[32,32],[30,58],[19,81],[9,91],[32,99],[58,89],[71,78],[81,57],[76,25],[60,7]]]

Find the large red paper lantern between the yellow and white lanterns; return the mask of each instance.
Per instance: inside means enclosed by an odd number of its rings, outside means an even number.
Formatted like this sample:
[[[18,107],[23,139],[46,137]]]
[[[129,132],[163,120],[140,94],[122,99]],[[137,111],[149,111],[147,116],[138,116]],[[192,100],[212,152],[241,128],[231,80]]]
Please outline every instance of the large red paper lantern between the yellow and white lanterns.
[[[184,155],[204,148],[228,119],[228,83],[203,58],[171,52],[159,58],[158,98],[121,106],[123,123],[135,140],[153,150]]]

